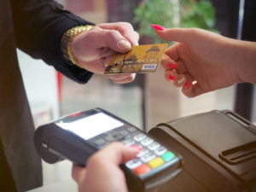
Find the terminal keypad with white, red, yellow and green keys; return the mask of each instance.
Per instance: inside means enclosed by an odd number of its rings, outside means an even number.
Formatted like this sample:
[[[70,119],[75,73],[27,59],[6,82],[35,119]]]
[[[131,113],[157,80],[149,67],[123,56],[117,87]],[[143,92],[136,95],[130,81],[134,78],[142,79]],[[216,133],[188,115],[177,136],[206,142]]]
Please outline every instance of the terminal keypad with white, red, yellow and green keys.
[[[150,172],[175,158],[175,154],[172,151],[161,146],[160,143],[157,143],[142,131],[138,131],[135,127],[111,131],[103,137],[94,139],[93,143],[99,148],[102,148],[103,145],[113,141],[120,141],[126,146],[137,148],[140,151],[136,159],[129,160],[125,163],[126,167],[138,175]]]

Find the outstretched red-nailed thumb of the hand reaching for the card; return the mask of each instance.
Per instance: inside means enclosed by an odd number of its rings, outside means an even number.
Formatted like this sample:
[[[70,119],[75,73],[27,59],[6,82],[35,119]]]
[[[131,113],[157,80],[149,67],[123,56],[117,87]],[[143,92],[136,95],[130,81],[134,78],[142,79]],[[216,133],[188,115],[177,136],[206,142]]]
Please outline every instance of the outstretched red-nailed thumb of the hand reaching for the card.
[[[196,32],[190,28],[167,28],[163,31],[155,30],[156,34],[166,41],[177,41],[188,44],[191,39],[196,38]]]

